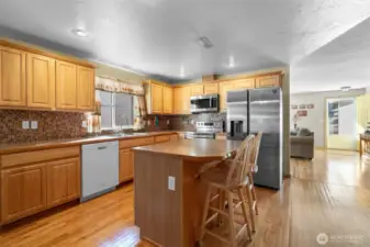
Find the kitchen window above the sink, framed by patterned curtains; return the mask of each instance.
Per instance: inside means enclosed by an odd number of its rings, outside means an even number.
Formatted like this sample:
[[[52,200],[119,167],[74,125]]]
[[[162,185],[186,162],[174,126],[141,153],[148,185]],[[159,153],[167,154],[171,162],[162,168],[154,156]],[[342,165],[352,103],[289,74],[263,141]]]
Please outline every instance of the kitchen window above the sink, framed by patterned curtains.
[[[101,128],[132,128],[134,124],[134,97],[127,93],[97,90],[101,100]]]

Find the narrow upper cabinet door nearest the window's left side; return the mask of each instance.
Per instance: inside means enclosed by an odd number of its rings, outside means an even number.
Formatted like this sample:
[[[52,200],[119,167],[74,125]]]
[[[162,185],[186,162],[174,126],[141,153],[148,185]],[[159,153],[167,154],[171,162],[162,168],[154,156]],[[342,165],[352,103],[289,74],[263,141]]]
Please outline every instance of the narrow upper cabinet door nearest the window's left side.
[[[91,68],[77,67],[77,108],[93,111],[96,104],[96,78]]]

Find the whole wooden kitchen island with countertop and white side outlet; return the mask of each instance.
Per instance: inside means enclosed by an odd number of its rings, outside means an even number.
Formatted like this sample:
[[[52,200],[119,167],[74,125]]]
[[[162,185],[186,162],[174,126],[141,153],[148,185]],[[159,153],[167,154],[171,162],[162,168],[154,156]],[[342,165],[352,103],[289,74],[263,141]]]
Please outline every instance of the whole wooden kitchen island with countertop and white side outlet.
[[[141,237],[164,247],[194,246],[205,187],[195,178],[206,162],[236,151],[240,142],[180,139],[134,150],[135,224]]]

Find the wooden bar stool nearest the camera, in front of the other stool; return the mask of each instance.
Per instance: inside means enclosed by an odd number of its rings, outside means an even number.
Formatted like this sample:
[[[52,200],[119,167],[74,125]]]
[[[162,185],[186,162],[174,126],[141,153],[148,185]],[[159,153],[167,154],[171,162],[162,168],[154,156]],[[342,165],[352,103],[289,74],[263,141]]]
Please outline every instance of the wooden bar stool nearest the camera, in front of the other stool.
[[[242,143],[240,147],[236,151],[234,159],[229,166],[217,166],[208,169],[200,175],[201,181],[208,186],[205,204],[202,215],[201,235],[199,244],[202,244],[202,239],[205,234],[209,234],[233,247],[236,247],[236,239],[242,236],[244,231],[247,231],[248,238],[251,240],[251,231],[248,223],[246,200],[244,199],[243,190],[248,184],[248,165],[247,160],[251,159],[253,147],[254,147],[254,136],[248,136],[245,142]],[[217,190],[218,193],[213,195],[212,191]],[[234,204],[234,193],[237,193],[237,203]],[[212,206],[212,201],[218,199],[221,194],[224,193],[227,199],[227,212],[224,211],[224,206]],[[223,204],[223,200],[220,200]],[[244,221],[236,221],[234,211],[235,209],[242,206]],[[209,217],[209,211],[212,212]],[[228,217],[229,225],[229,237],[228,239],[206,229],[206,225],[216,218],[218,215]],[[235,223],[242,225],[242,228],[236,233]]]

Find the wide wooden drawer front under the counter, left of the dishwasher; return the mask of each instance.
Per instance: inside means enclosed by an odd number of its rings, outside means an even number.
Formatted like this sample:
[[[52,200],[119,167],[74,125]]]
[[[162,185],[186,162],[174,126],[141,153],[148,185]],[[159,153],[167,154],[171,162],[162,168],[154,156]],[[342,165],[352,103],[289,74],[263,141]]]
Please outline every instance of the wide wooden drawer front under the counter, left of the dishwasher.
[[[1,156],[1,167],[12,167],[33,162],[43,162],[52,159],[59,159],[65,157],[74,157],[80,155],[80,147],[63,147],[34,151],[23,151],[11,155]]]

